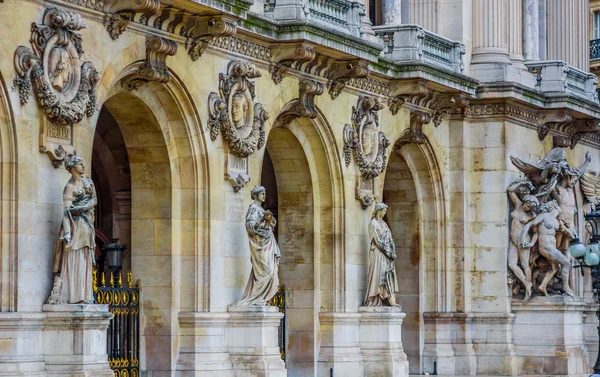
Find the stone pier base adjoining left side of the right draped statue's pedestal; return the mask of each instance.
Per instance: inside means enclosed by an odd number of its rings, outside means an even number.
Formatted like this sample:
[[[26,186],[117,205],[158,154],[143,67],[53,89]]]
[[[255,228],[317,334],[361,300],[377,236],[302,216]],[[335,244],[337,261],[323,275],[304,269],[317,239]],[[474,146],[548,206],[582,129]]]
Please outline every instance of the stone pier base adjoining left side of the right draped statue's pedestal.
[[[359,313],[319,313],[321,349],[318,375],[362,377],[364,368],[359,341]]]

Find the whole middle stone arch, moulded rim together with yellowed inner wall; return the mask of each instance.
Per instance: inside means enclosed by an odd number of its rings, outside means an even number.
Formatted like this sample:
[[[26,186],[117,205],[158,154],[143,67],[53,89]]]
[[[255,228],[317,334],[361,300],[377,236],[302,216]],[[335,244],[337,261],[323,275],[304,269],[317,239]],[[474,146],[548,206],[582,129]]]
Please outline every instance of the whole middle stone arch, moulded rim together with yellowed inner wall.
[[[338,294],[343,271],[334,268],[343,265],[336,261],[343,255],[343,183],[335,145],[320,113],[316,119],[290,120],[282,112],[267,137],[279,203],[280,283],[291,291],[289,376],[316,375],[319,312],[335,310],[343,303],[343,295]],[[294,254],[286,256],[286,249]]]

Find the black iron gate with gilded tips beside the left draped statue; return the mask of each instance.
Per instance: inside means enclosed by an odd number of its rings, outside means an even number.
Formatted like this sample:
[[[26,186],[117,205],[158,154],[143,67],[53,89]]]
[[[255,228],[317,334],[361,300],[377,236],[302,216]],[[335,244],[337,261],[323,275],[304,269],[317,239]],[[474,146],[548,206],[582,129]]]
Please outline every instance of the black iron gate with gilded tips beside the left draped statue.
[[[107,330],[107,353],[115,377],[139,377],[140,365],[140,284],[133,286],[131,271],[123,287],[121,273],[109,272],[109,285],[101,274],[98,285],[94,271],[94,295],[97,304],[106,304],[114,318]],[[116,281],[115,281],[116,279]]]

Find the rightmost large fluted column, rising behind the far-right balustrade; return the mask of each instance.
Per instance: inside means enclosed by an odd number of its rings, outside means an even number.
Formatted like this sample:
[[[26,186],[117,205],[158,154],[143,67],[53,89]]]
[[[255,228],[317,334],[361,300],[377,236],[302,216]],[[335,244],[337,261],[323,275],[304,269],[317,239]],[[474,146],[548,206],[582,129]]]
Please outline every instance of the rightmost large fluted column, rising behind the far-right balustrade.
[[[548,60],[589,71],[589,1],[549,0],[546,11]]]

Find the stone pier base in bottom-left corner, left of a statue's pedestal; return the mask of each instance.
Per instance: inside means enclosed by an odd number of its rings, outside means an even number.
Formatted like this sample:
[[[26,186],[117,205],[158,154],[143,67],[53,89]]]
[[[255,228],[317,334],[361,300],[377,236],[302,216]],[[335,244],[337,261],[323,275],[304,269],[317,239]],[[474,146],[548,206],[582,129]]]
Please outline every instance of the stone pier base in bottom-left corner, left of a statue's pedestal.
[[[0,313],[0,376],[46,376],[43,313]]]

